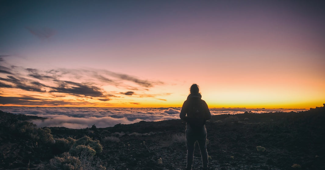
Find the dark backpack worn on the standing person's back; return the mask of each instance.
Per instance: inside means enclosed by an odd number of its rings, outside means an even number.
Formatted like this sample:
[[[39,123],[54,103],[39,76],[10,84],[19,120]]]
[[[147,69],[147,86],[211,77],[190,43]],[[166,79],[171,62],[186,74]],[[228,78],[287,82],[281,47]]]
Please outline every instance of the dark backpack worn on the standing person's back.
[[[205,124],[205,110],[203,100],[189,101],[187,111],[188,123],[192,128],[200,128]]]

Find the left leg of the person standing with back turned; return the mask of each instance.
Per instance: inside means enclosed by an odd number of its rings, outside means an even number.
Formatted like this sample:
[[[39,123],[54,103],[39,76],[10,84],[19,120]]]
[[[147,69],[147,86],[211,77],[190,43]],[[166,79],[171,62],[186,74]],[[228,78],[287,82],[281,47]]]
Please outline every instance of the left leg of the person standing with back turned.
[[[195,149],[195,138],[191,128],[186,127],[185,136],[186,136],[186,148],[187,148],[186,170],[191,170],[193,164],[193,154]]]

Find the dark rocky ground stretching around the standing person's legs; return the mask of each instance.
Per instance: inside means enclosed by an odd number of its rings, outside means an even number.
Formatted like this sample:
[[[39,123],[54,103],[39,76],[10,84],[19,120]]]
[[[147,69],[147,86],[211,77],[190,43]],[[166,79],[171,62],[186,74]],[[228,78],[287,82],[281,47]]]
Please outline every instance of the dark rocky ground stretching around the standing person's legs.
[[[299,113],[214,115],[206,124],[209,169],[325,169],[324,121],[324,107]],[[25,139],[10,136],[4,129],[0,169],[44,169],[49,159],[59,154],[51,151],[50,144],[44,149],[40,142],[34,148],[27,148],[32,142],[22,146]],[[181,120],[49,129],[54,138],[89,136],[99,140],[103,150],[95,157],[108,170],[177,170],[186,165],[185,123]],[[200,169],[200,157],[197,146],[193,169]]]

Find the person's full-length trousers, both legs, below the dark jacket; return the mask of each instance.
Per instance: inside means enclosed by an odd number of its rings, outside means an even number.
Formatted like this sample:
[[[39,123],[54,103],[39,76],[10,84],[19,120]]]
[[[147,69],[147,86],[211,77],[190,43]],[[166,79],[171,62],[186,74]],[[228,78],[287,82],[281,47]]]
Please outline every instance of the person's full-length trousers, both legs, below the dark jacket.
[[[192,128],[189,124],[186,125],[186,148],[187,148],[187,163],[186,169],[191,169],[193,164],[193,155],[195,142],[198,141],[201,151],[201,160],[203,168],[208,166],[208,151],[206,150],[206,128],[205,125],[199,128]]]

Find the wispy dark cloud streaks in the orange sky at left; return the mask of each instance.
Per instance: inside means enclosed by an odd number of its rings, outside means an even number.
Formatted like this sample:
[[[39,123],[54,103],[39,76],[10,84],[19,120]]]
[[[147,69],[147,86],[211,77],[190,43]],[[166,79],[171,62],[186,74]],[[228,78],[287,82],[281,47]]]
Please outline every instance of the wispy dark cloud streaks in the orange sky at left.
[[[55,105],[73,105],[73,102],[80,103],[90,102],[92,99],[93,104],[100,101],[110,101],[114,98],[122,99],[125,96],[134,96],[140,98],[156,98],[157,96],[164,96],[166,94],[150,94],[150,88],[156,85],[164,85],[161,81],[151,81],[139,79],[136,76],[115,73],[101,69],[50,69],[39,70],[34,68],[23,68],[11,65],[9,67],[0,66],[0,87],[8,89],[20,89],[25,92],[33,92],[30,96],[39,95],[41,93],[44,98],[51,100],[45,101],[28,100],[20,98],[19,94],[6,94],[6,102],[0,104],[26,104],[26,105],[54,105],[53,98],[63,96]],[[104,87],[113,86],[125,92],[107,91]],[[3,95],[3,93],[2,93]],[[71,98],[67,102],[66,99],[70,95]],[[168,95],[168,94],[167,94]],[[79,99],[73,99],[77,96]],[[95,99],[95,100],[94,100]],[[157,98],[165,101],[165,99]],[[4,101],[4,100],[2,100]],[[127,103],[130,103],[126,101]],[[140,104],[132,102],[132,104]]]

